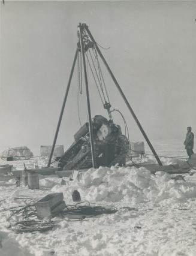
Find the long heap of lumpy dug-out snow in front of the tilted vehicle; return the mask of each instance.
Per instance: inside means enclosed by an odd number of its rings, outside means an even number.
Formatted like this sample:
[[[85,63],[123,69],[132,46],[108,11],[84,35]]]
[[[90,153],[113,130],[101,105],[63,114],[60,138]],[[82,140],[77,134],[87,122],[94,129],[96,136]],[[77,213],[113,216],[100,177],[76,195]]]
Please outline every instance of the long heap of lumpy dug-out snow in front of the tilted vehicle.
[[[65,200],[71,200],[71,192],[77,189],[82,200],[94,202],[123,202],[128,205],[151,202],[170,204],[196,197],[195,183],[174,180],[164,171],[151,174],[144,167],[89,169],[79,181],[69,181],[61,186],[57,178],[41,180],[41,185],[53,192],[64,192]]]

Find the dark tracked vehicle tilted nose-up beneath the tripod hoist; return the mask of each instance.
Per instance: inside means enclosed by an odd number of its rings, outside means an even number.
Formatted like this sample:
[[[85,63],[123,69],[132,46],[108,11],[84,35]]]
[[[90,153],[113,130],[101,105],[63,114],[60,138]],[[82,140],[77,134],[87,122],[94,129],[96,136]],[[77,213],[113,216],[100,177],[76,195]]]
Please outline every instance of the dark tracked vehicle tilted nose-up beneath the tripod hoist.
[[[107,121],[103,116],[92,119],[92,129],[97,167],[125,165],[129,152],[129,140],[122,135],[119,125]],[[64,170],[79,170],[92,167],[91,142],[88,123],[83,125],[74,135],[74,143],[67,149],[58,167]]]

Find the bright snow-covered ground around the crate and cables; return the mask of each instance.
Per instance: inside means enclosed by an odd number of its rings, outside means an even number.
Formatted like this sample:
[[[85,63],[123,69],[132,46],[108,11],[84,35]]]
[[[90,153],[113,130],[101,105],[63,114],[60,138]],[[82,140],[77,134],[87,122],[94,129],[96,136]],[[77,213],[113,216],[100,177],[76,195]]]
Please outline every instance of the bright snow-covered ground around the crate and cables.
[[[155,143],[159,155],[183,155],[180,144]],[[149,152],[150,153],[150,152]],[[152,156],[143,160],[154,161]],[[174,164],[176,158],[161,158]],[[43,165],[44,159],[26,162]],[[1,161],[3,163],[3,161]],[[22,168],[23,162],[13,165]],[[63,192],[67,204],[73,204],[72,192],[77,189],[82,201],[92,205],[114,206],[116,213],[81,221],[55,217],[56,227],[45,233],[16,234],[7,226],[11,206],[24,204],[21,197],[34,200],[50,192]],[[14,180],[0,182],[0,255],[80,255],[80,256],[191,256],[196,255],[196,184],[174,180],[162,171],[155,175],[146,168],[90,169],[79,180],[61,185],[58,177],[40,179],[40,189],[31,190]],[[131,209],[134,208],[134,209]]]

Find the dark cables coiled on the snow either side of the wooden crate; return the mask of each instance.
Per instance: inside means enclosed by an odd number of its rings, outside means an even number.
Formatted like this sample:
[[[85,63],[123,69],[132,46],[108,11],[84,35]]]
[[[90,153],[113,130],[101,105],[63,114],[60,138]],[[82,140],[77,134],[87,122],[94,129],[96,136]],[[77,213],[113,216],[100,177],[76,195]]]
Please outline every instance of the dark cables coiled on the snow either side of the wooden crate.
[[[87,203],[88,205],[82,205],[83,203]],[[35,208],[35,204],[32,204],[31,202],[26,206],[14,206],[8,210],[11,211],[11,215],[7,218],[7,221],[10,222],[8,228],[16,233],[44,232],[51,230],[56,226],[53,221],[36,220],[35,217],[37,217],[37,210]],[[66,206],[66,209],[62,210],[59,214],[78,221],[101,214],[111,214],[116,212],[117,209],[114,206],[91,206],[89,202],[80,202],[75,205]],[[16,222],[14,222],[16,219],[15,217],[17,217]]]

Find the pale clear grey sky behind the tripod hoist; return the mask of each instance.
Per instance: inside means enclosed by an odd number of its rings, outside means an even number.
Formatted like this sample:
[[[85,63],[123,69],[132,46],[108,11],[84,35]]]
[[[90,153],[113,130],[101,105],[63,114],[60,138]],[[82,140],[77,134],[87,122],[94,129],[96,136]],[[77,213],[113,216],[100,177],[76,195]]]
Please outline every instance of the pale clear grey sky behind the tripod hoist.
[[[73,65],[77,26],[86,23],[104,48],[117,82],[150,140],[196,133],[195,1],[6,1],[0,3],[0,144],[52,144]],[[143,140],[104,65],[111,109],[131,141]],[[89,78],[91,112],[107,113]],[[57,144],[70,146],[86,122],[85,83],[77,107],[74,71]],[[119,114],[113,115],[122,126]]]

